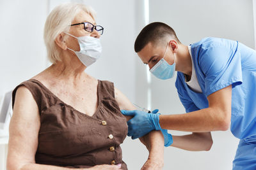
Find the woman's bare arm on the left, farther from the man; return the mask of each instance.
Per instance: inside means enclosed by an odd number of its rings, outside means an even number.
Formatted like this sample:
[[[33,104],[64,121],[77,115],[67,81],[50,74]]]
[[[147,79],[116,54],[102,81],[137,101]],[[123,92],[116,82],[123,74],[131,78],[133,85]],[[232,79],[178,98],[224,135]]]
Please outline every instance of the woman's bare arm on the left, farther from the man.
[[[40,116],[31,92],[24,86],[17,89],[13,116],[9,127],[8,169],[20,169],[35,162]]]

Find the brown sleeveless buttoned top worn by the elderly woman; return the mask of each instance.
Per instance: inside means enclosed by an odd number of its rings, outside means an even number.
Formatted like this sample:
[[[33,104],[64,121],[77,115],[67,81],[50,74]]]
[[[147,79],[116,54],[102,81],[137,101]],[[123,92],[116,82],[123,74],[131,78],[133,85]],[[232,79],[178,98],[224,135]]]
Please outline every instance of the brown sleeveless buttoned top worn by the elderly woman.
[[[100,164],[122,164],[120,144],[127,136],[127,123],[115,100],[113,83],[98,80],[99,106],[92,117],[63,103],[40,81],[24,85],[30,90],[40,113],[40,131],[35,161],[63,167],[84,168]]]

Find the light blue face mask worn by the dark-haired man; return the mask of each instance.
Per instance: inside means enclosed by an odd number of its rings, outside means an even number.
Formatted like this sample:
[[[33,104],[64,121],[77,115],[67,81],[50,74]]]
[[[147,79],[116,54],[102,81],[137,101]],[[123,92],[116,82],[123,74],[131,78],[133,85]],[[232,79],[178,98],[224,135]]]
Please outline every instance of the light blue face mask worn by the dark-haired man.
[[[166,53],[167,47],[168,45],[166,46],[164,55]],[[159,62],[157,62],[157,64],[150,69],[150,72],[162,80],[173,78],[175,72],[175,64],[175,54],[174,63],[172,65],[168,64],[168,62],[166,62],[163,57],[163,59],[159,60]]]

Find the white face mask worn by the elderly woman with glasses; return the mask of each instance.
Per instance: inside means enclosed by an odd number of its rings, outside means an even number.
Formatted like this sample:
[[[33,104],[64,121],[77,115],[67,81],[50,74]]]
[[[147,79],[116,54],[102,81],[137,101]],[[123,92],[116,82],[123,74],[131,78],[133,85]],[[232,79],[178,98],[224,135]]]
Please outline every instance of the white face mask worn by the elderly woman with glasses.
[[[68,33],[65,32],[65,34]],[[68,35],[72,36],[71,34]],[[78,40],[80,51],[76,52],[70,48],[68,48],[68,50],[71,50],[72,52],[76,53],[78,59],[81,60],[84,66],[88,67],[92,65],[97,59],[99,59],[102,52],[102,47],[99,38],[94,38],[92,36],[72,37]]]

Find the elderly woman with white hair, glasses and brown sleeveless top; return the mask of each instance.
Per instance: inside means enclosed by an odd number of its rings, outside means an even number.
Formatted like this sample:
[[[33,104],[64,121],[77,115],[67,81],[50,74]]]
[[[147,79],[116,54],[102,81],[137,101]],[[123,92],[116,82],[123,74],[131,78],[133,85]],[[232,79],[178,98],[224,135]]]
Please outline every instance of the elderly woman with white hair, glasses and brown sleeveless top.
[[[13,90],[8,169],[127,169],[120,144],[129,118],[120,109],[134,106],[113,83],[84,72],[100,57],[102,33],[88,6],[52,10],[44,31],[52,65]],[[161,169],[161,132],[141,142],[149,151],[142,169]]]

